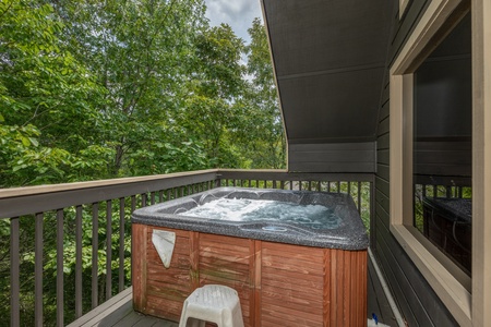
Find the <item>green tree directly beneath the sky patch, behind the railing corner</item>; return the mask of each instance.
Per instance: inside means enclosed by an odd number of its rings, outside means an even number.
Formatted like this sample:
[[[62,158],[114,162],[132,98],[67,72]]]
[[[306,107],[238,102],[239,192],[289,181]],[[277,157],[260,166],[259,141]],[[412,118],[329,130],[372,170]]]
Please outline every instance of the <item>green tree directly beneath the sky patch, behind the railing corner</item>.
[[[230,132],[238,128],[237,100],[244,90],[241,63],[243,40],[227,24],[202,28],[195,37],[195,56],[189,71],[189,97],[181,107],[178,125],[203,145],[215,167],[237,167]]]

